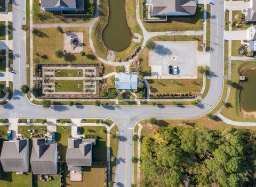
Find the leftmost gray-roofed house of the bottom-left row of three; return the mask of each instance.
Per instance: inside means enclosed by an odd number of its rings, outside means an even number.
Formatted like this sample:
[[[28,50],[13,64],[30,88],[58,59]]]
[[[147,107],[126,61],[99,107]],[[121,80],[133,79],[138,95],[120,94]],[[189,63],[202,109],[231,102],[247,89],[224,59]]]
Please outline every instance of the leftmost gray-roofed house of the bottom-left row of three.
[[[27,172],[29,169],[28,139],[4,141],[1,164],[4,172]]]

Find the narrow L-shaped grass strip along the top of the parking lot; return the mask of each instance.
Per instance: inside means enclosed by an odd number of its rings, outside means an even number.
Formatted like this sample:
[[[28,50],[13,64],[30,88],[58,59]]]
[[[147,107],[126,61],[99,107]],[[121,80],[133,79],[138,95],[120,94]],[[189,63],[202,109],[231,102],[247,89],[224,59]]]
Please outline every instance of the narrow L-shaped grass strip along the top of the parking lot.
[[[197,50],[203,51],[203,35],[202,36],[156,36],[151,38],[155,41],[197,41]]]

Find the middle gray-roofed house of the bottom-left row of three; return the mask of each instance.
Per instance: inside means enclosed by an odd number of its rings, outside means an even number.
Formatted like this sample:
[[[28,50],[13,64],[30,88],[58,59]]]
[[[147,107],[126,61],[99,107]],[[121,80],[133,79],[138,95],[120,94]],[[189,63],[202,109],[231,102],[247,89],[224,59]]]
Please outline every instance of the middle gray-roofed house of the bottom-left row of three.
[[[57,174],[57,143],[46,143],[45,138],[34,138],[30,164],[34,174]]]

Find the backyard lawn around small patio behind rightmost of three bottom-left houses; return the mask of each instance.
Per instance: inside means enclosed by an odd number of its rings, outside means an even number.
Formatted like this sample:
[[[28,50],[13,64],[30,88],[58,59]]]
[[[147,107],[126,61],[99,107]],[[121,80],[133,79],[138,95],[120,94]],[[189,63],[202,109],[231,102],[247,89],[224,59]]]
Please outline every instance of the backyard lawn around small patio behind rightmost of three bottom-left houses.
[[[67,169],[67,167],[66,167]],[[67,176],[66,172],[66,185],[71,187],[96,187],[104,186],[105,180],[105,166],[102,163],[92,163],[91,167],[83,167],[83,181],[72,182]]]

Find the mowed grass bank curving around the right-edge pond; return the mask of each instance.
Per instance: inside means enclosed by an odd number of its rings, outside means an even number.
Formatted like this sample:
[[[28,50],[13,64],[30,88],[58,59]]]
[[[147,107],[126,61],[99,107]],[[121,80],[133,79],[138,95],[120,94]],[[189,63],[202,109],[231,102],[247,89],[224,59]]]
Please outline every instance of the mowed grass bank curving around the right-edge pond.
[[[240,73],[250,67],[256,67],[256,62],[253,61],[231,61],[231,81],[239,83]],[[239,90],[230,88],[228,103],[230,108],[223,108],[221,114],[233,121],[256,122],[254,116],[244,116],[240,111]]]

